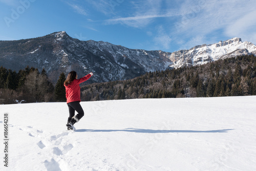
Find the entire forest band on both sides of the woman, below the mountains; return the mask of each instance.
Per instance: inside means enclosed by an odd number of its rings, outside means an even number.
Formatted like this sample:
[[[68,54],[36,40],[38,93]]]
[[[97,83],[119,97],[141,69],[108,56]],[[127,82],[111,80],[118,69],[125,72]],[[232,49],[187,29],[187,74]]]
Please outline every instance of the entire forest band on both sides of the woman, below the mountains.
[[[61,73],[56,83],[45,70],[0,68],[0,104],[66,101]],[[53,86],[55,84],[55,86]],[[243,55],[205,65],[149,72],[130,80],[81,87],[82,101],[256,95],[256,57]]]

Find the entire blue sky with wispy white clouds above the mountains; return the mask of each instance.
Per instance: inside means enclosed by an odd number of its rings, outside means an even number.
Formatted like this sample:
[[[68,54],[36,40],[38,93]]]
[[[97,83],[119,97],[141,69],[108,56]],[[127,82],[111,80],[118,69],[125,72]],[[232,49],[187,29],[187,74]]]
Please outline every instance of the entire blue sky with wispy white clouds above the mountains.
[[[233,37],[256,44],[255,7],[255,0],[0,0],[0,40],[66,31],[166,52]]]

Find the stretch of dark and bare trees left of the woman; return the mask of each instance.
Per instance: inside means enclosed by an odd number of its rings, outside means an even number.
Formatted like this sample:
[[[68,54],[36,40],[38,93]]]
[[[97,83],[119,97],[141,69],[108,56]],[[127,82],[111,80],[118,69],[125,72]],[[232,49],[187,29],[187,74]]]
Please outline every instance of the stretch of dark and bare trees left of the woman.
[[[64,73],[60,77],[66,79]],[[0,104],[65,101],[64,86],[59,90],[59,84],[53,86],[45,69],[39,72],[36,68],[26,67],[16,72],[0,67]]]

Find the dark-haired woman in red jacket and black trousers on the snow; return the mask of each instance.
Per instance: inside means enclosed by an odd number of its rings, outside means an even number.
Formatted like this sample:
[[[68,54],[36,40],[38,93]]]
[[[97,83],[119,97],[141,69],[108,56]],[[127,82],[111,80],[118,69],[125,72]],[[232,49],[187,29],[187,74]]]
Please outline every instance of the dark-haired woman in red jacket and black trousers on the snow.
[[[68,118],[68,130],[75,130],[74,124],[78,122],[84,115],[82,107],[80,105],[80,86],[79,84],[88,80],[93,73],[77,79],[77,74],[75,71],[71,71],[64,82],[66,88],[66,98],[69,107],[69,118]],[[75,116],[75,111],[78,113]]]

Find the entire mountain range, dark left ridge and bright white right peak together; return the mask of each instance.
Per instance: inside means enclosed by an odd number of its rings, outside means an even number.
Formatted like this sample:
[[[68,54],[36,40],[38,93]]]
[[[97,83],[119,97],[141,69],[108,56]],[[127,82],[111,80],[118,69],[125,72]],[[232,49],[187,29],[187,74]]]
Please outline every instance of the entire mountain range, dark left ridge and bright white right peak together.
[[[170,53],[129,49],[103,41],[81,41],[65,31],[31,39],[0,41],[0,66],[16,71],[27,66],[39,71],[45,68],[52,82],[56,82],[61,72],[67,74],[72,70],[77,71],[79,77],[94,72],[87,83],[107,82],[242,54],[256,54],[256,46],[232,38]]]

